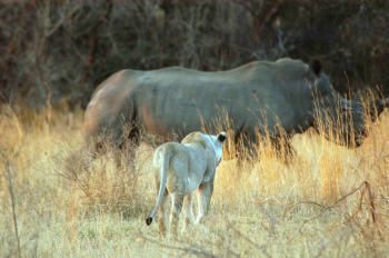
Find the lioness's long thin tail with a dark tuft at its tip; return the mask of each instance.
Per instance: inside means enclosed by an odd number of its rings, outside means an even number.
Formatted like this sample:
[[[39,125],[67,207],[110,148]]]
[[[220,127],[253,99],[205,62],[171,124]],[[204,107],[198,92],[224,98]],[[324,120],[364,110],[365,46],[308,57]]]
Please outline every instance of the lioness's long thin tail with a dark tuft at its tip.
[[[162,204],[166,185],[168,182],[169,162],[170,162],[172,150],[173,150],[172,146],[167,145],[167,148],[161,149],[161,152],[159,153],[159,169],[160,169],[159,175],[161,177],[161,179],[160,179],[161,181],[160,181],[160,186],[159,186],[158,200],[156,204],[156,208],[152,211],[151,216],[146,219],[147,226],[150,226],[150,224],[152,222],[152,219],[157,215],[157,210],[158,210],[159,206]]]

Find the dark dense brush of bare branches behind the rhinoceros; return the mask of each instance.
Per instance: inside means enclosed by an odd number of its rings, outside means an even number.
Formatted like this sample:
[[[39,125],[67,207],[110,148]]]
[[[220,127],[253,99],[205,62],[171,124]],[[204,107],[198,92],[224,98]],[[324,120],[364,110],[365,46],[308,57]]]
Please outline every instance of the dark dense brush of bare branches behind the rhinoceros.
[[[389,93],[388,13],[387,1],[1,1],[0,101],[86,107],[120,69],[282,57],[319,57],[342,93]]]

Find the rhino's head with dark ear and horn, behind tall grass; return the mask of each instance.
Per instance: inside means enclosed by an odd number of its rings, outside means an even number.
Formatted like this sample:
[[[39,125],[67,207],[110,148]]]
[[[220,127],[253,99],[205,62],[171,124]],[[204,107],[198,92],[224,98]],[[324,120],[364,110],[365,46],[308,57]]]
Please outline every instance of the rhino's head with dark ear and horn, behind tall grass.
[[[351,100],[345,99],[332,89],[329,77],[322,72],[322,64],[317,59],[310,62],[307,78],[315,99],[313,125],[320,133],[337,143],[359,147],[367,137],[367,119],[375,121],[389,106],[389,98],[371,101],[368,106],[362,105],[359,95]],[[370,116],[367,116],[368,111]]]

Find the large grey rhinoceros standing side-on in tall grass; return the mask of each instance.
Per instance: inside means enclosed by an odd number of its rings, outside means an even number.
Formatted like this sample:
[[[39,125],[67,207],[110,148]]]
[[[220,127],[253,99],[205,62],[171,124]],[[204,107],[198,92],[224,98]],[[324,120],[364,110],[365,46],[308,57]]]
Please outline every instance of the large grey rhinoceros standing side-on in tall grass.
[[[110,131],[117,146],[127,138],[136,139],[140,129],[164,139],[176,133],[182,140],[205,125],[218,130],[212,125],[222,110],[233,125],[235,139],[243,136],[246,142],[258,141],[258,132],[277,139],[315,127],[329,136],[335,127],[343,126],[337,142],[358,147],[366,138],[365,107],[358,98],[348,100],[336,92],[322,70],[319,59],[306,64],[289,58],[216,72],[181,67],[121,70],[92,95],[84,113],[84,135],[96,139]],[[371,111],[376,119],[389,100],[370,105],[376,107]],[[124,125],[132,130],[126,132]]]

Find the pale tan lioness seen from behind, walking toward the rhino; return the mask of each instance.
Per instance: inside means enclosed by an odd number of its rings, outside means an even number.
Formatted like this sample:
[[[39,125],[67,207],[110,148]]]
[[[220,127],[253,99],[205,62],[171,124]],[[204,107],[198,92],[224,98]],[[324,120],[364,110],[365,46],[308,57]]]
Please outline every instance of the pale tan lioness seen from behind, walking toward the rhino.
[[[170,232],[176,238],[177,222],[183,200],[186,227],[194,220],[191,194],[196,189],[199,189],[197,222],[205,222],[213,190],[215,173],[221,159],[226,138],[226,132],[211,136],[197,131],[189,133],[181,143],[167,142],[157,148],[153,156],[153,166],[159,194],[154,210],[146,219],[148,226],[151,225],[158,210],[159,232],[166,236],[168,231],[168,196],[171,195]]]

